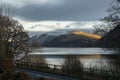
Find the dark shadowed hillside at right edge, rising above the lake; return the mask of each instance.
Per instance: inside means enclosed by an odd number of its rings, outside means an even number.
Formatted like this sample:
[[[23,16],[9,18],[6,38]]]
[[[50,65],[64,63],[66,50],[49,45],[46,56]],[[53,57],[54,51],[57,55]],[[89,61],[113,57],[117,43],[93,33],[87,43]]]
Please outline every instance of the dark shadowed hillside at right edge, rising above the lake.
[[[120,26],[110,30],[99,41],[102,47],[120,47]]]

